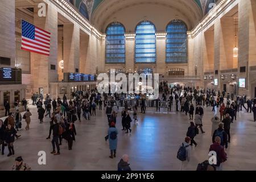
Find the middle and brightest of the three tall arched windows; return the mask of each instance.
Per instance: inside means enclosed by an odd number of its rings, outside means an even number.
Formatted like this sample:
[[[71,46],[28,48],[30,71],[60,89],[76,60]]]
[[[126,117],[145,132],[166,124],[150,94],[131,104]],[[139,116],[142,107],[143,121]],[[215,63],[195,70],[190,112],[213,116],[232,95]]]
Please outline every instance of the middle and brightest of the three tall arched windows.
[[[143,21],[136,27],[135,63],[156,63],[155,25]]]

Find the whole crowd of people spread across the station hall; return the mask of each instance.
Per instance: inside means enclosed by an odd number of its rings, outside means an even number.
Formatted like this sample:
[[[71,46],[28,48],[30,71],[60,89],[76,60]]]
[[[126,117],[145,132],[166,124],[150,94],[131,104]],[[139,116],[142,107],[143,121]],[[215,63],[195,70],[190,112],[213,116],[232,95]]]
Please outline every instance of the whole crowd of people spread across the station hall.
[[[190,126],[188,127],[187,134],[184,142],[179,148],[177,158],[182,161],[181,169],[185,169],[190,160],[191,147],[198,145],[195,141],[195,137],[199,135],[199,130],[202,134],[205,133],[203,130],[203,118],[204,109],[203,106],[212,107],[214,112],[214,117],[212,121],[212,143],[210,144],[209,151],[216,151],[217,153],[217,164],[212,166],[208,165],[209,169],[221,170],[222,163],[227,160],[225,149],[228,148],[228,143],[231,141],[230,137],[230,125],[237,119],[237,113],[242,110],[242,107],[247,113],[254,113],[254,121],[256,121],[256,99],[246,100],[246,95],[242,97],[237,97],[234,101],[234,94],[228,93],[226,95],[225,91],[216,92],[216,90],[211,89],[192,89],[189,87],[174,87],[170,88],[167,82],[161,82],[159,90],[162,92],[162,98],[159,101],[170,101],[168,106],[168,111],[175,110],[189,114]],[[225,97],[226,96],[226,97]],[[91,90],[91,92],[81,92],[77,91],[72,93],[71,100],[67,100],[67,96],[63,96],[61,99],[53,98],[53,100],[46,95],[46,98],[42,94],[32,94],[31,100],[32,105],[35,105],[38,109],[38,119],[39,123],[44,122],[44,118],[50,118],[49,133],[47,134],[47,139],[51,139],[52,134],[52,152],[53,155],[60,155],[60,146],[63,143],[63,139],[67,140],[68,150],[72,150],[73,141],[76,140],[76,127],[75,122],[81,122],[84,118],[88,122],[90,118],[96,116],[96,108],[98,110],[105,110],[106,120],[108,123],[108,134],[105,140],[109,140],[110,156],[113,159],[117,155],[117,141],[118,141],[118,129],[116,128],[117,115],[119,112],[119,107],[115,101],[125,100],[125,94],[99,94],[97,90]],[[224,101],[224,98],[226,100]],[[146,96],[141,96],[141,113],[146,113]],[[108,101],[108,102],[105,102]],[[18,101],[17,101],[18,102]],[[124,107],[121,111],[121,123],[122,129],[126,134],[131,133],[131,122],[134,121],[138,124],[138,105],[129,106],[127,101],[124,102]],[[247,104],[247,108],[245,107]],[[175,108],[172,106],[175,104]],[[194,107],[195,104],[195,107]],[[2,155],[4,155],[5,147],[7,146],[9,154],[7,156],[14,155],[14,142],[15,138],[18,139],[19,129],[21,126],[22,119],[25,119],[27,125],[26,130],[30,130],[31,122],[31,112],[27,109],[27,101],[23,99],[22,105],[26,112],[20,114],[19,107],[15,105],[15,113],[10,113],[10,104],[6,102],[6,114],[9,116],[5,121],[0,120],[0,145]],[[102,105],[104,105],[102,107]],[[219,108],[219,114],[217,112],[217,107]],[[156,107],[156,111],[160,111],[160,107]],[[131,114],[132,113],[132,114]],[[218,117],[220,115],[220,117]],[[81,118],[82,117],[82,118]],[[20,157],[21,158],[21,157]],[[26,167],[20,162],[23,161],[22,158],[16,161],[18,169]],[[130,170],[129,167],[129,156],[123,155],[122,159],[118,163],[119,171]],[[201,167],[205,163],[199,164]],[[200,166],[201,165],[201,166]],[[210,168],[212,167],[212,168]],[[17,167],[14,166],[15,169]],[[31,169],[26,167],[26,169]]]

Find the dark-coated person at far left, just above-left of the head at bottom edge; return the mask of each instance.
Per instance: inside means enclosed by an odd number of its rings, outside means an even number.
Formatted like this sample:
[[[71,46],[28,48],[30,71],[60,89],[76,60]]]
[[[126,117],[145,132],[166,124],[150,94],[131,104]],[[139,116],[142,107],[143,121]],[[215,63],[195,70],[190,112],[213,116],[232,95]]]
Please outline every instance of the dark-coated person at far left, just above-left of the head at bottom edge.
[[[15,135],[17,131],[14,129],[13,126],[7,125],[6,133],[5,133],[5,142],[7,143],[9,154],[7,156],[14,155],[14,140],[15,140]]]

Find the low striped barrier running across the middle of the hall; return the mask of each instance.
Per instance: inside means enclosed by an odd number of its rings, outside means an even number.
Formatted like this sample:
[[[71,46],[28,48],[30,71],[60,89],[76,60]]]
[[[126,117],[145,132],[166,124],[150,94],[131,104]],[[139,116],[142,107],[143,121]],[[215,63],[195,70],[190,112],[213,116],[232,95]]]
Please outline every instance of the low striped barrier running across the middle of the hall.
[[[114,101],[118,107],[124,107],[125,102],[127,101],[128,107],[133,107],[135,104],[137,107],[142,106],[142,100],[118,100]],[[110,101],[104,101],[106,105],[110,104]],[[160,107],[160,108],[169,108],[171,102],[170,101],[159,101],[159,100],[145,100],[146,107]]]

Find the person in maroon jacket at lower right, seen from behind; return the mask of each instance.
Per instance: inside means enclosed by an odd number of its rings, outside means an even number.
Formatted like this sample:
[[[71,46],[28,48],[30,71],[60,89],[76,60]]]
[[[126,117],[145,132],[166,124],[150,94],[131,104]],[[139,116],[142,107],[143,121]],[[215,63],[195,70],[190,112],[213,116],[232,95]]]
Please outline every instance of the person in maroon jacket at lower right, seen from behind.
[[[221,146],[221,138],[220,137],[215,137],[215,142],[210,145],[209,151],[215,151],[217,154],[217,164],[216,170],[217,171],[222,171],[222,163],[224,163],[227,160],[226,152],[224,150],[224,147]]]

